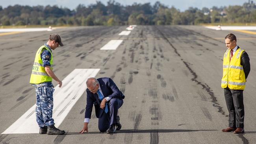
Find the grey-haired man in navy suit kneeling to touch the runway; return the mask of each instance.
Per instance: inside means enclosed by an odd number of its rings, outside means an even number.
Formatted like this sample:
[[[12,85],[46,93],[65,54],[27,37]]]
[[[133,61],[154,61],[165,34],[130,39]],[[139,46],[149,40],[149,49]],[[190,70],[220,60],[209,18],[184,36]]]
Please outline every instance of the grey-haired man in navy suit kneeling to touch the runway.
[[[87,131],[93,105],[98,118],[98,129],[101,132],[115,133],[121,129],[118,109],[123,104],[124,94],[118,89],[111,78],[89,78],[87,85],[87,102],[85,108],[85,119],[83,129],[80,133]]]

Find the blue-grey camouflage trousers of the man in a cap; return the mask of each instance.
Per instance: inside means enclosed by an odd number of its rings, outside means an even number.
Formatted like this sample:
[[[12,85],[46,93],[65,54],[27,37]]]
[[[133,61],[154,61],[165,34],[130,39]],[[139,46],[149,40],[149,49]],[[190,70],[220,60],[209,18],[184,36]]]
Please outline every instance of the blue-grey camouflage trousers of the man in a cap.
[[[54,125],[52,118],[53,108],[53,88],[52,87],[35,87],[37,97],[35,115],[39,127]]]

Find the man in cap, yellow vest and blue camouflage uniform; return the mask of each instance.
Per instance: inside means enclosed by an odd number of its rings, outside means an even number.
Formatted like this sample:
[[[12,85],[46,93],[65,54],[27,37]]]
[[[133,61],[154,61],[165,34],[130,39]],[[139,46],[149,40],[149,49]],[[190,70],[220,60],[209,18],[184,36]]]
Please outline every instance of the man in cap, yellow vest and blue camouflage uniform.
[[[56,80],[59,87],[62,85],[57,76],[52,71],[53,56],[52,50],[63,46],[61,37],[58,34],[50,35],[48,42],[41,46],[35,55],[30,83],[35,86],[36,92],[36,120],[39,125],[39,134],[63,135],[65,131],[54,126],[52,118],[53,92],[52,79]]]

